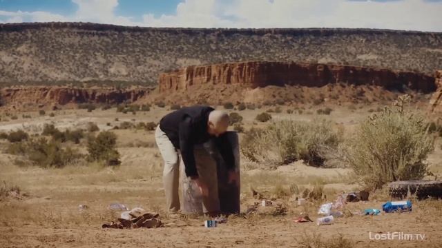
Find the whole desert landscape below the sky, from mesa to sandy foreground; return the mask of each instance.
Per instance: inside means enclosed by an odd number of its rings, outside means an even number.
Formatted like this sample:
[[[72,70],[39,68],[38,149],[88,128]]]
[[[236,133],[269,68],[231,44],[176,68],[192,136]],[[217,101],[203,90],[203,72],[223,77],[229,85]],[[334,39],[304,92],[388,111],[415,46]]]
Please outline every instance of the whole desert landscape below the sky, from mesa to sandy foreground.
[[[441,33],[23,23],[0,37],[1,247],[442,246],[440,198],[363,214],[397,200],[391,181],[442,176]],[[154,130],[195,104],[226,110],[240,136],[241,213],[215,228],[164,209]],[[164,226],[104,229],[113,203]]]

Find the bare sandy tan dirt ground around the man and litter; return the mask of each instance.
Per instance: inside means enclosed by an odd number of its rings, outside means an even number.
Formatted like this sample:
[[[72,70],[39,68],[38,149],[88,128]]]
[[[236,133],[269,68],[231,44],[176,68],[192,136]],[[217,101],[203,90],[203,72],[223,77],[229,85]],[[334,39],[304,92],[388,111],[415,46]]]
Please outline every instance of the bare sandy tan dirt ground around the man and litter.
[[[287,114],[282,107],[276,120],[291,118],[313,121],[314,114]],[[346,130],[352,130],[359,121],[369,115],[369,108],[336,109],[329,118]],[[253,125],[253,118],[264,110],[239,112],[246,127]],[[0,131],[23,128],[28,132],[41,132],[44,123],[54,123],[61,129],[83,127],[92,121],[106,130],[123,121],[155,121],[169,110],[155,108],[151,112],[133,114],[111,110],[59,110],[55,116],[2,121]],[[20,114],[21,115],[21,114]],[[115,120],[118,118],[118,121]],[[110,124],[108,124],[110,123]],[[256,125],[262,125],[257,123]],[[216,228],[205,228],[204,217],[181,216],[171,218],[164,211],[162,188],[162,159],[153,145],[153,132],[142,130],[115,130],[117,147],[122,155],[122,165],[103,168],[99,165],[68,165],[62,169],[19,167],[15,156],[0,154],[0,182],[18,185],[23,198],[0,200],[0,247],[442,247],[442,201],[412,199],[410,213],[361,216],[356,212],[365,208],[381,208],[390,200],[383,191],[371,194],[368,202],[347,203],[344,216],[336,218],[333,225],[317,226],[316,223],[294,223],[294,218],[308,214],[312,220],[318,217],[318,207],[336,199],[340,192],[361,189],[350,169],[320,169],[296,162],[263,169],[242,159],[242,211],[258,202],[251,195],[253,187],[265,196],[278,196],[286,214],[277,207],[259,207],[256,214],[231,216],[227,223]],[[143,141],[152,145],[130,145]],[[442,151],[439,139],[436,150],[428,158],[430,170],[442,175]],[[4,144],[0,144],[4,145]],[[440,178],[440,176],[439,176]],[[309,201],[298,206],[291,196],[279,196],[278,187],[288,189],[296,184],[300,189],[324,185],[327,200]],[[160,214],[165,227],[157,229],[102,229],[103,223],[115,220],[119,211],[111,211],[108,205],[123,203],[129,208],[143,207]],[[79,205],[88,209],[79,210]],[[376,240],[381,234],[422,234],[423,240]],[[397,234],[396,234],[397,235]]]

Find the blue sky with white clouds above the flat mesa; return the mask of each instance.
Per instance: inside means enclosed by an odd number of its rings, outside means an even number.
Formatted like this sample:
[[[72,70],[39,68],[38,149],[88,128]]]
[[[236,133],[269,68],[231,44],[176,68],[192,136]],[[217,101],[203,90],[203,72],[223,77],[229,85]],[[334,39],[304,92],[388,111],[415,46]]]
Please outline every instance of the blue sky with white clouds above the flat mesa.
[[[0,23],[442,32],[442,0],[0,0]]]

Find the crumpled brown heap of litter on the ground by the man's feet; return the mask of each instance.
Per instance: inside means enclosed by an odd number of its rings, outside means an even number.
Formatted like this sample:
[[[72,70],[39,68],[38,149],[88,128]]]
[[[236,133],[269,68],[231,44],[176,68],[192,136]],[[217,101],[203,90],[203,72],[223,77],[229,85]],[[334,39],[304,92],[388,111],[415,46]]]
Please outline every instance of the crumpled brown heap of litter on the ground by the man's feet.
[[[117,228],[117,229],[131,229],[131,228],[154,228],[163,227],[163,223],[158,219],[159,214],[146,213],[138,216],[137,218],[132,218],[131,220],[125,220],[123,218],[118,218],[119,223],[112,221],[109,224],[103,224],[102,228]]]

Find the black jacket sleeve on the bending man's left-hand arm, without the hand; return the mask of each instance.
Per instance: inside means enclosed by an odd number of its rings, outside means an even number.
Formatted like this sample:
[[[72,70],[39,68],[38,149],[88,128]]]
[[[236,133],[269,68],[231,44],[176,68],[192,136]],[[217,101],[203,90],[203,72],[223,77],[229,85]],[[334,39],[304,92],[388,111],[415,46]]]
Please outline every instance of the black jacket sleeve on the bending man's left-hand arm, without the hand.
[[[180,122],[179,136],[180,136],[180,151],[186,176],[192,179],[198,178],[198,172],[195,165],[195,155],[193,154],[193,140],[192,140],[191,118],[186,117]]]

